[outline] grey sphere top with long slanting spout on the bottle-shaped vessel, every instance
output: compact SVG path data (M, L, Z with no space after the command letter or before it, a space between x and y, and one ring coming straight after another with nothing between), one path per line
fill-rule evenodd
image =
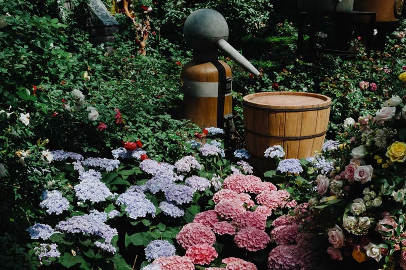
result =
M216 55L217 49L220 49L246 71L257 77L261 76L261 73L227 42L228 25L219 12L213 9L195 10L186 19L183 34L186 43L195 53Z

